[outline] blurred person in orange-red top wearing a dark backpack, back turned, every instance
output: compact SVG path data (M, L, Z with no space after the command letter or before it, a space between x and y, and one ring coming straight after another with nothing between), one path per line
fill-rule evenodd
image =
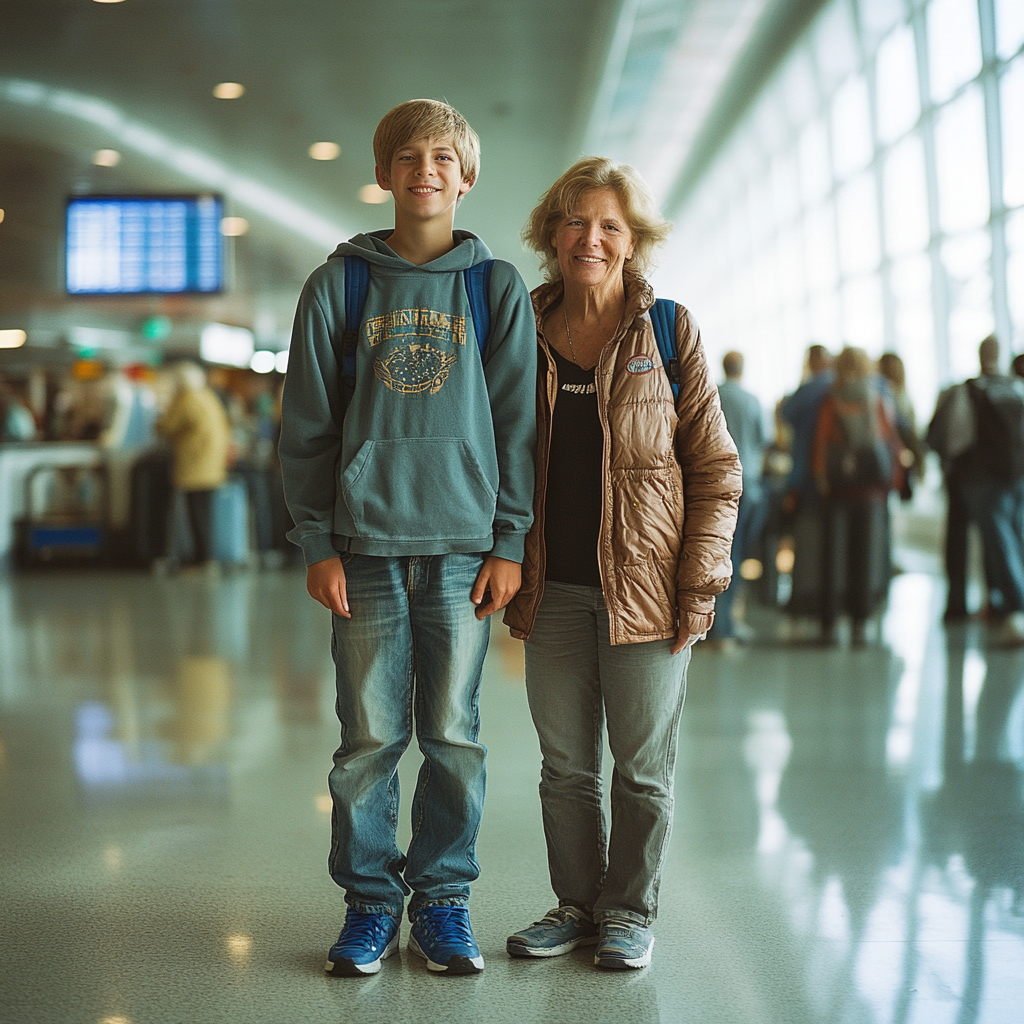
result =
M836 641L836 620L849 611L854 645L889 584L887 496L902 476L896 410L861 348L843 349L836 380L821 402L811 466L823 499L821 635Z

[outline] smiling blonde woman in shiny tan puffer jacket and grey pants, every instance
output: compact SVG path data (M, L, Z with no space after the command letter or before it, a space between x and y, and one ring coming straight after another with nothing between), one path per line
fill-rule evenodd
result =
M669 229L633 168L589 158L548 189L523 231L547 284L532 293L535 521L505 622L526 641L558 906L509 937L513 956L597 943L599 967L651 958L689 648L729 584L740 493L736 449L683 306L678 400L658 355L644 274Z

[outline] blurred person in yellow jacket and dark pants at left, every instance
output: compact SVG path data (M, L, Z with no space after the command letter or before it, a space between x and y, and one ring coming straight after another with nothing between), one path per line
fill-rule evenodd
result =
M170 406L157 430L174 453L175 487L185 498L196 564L213 557L213 493L227 479L231 428L220 399L207 386L206 374L195 362L175 368Z

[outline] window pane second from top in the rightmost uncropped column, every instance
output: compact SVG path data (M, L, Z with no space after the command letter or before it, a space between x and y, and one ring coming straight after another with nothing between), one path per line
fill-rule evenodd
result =
M939 222L947 232L980 227L988 220L988 158L985 104L974 85L940 111L935 124L939 177Z

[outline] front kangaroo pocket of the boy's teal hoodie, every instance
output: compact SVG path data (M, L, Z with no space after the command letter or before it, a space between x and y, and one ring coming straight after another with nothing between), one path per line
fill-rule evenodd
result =
M341 485L367 540L477 540L494 523L498 496L462 437L365 441Z

